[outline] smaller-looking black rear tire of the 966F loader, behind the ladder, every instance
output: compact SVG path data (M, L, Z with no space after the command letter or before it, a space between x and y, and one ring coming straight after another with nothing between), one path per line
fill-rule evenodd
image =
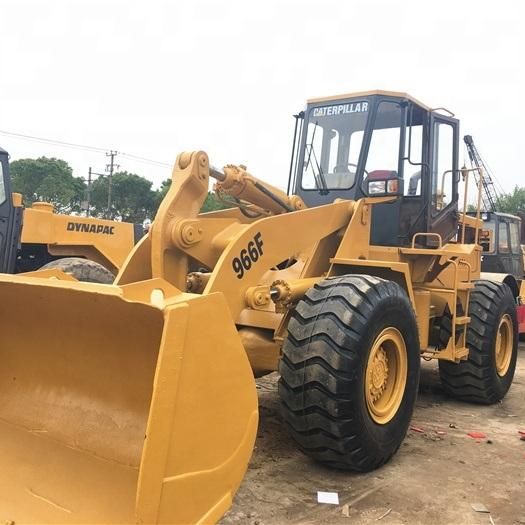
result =
M516 304L510 288L504 283L477 281L470 294L468 315L468 359L457 364L439 361L441 384L456 399L484 405L496 403L512 384L518 356ZM506 366L498 371L496 344L504 318L507 324L512 323L506 329L512 342Z

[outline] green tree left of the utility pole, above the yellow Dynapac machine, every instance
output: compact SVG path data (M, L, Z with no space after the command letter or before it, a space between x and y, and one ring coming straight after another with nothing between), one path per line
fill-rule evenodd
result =
M21 193L26 205L35 201L54 204L59 213L80 211L86 185L62 159L39 157L10 164L13 191Z

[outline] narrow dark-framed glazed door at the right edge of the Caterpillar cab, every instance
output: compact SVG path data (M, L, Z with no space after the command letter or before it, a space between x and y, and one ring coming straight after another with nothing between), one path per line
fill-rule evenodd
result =
M459 122L445 115L430 117L429 231L452 239L458 228Z

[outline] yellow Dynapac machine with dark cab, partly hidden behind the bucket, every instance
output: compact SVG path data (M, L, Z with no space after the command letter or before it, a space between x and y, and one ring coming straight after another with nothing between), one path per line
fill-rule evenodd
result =
M56 269L109 284L142 235L142 225L61 215L47 202L24 208L22 196L11 190L8 154L0 148L0 272Z

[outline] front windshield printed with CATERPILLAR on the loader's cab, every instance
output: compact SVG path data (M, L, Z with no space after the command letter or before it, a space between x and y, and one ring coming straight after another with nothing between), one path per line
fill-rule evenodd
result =
M369 102L355 100L313 107L308 113L303 189L350 189L368 118Z

